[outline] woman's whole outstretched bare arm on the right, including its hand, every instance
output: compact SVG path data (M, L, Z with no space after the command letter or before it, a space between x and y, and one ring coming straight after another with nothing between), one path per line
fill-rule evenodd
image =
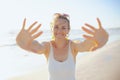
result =
M76 45L78 51L82 51L82 52L93 51L98 48L101 48L108 41L108 33L102 27L101 22L98 18L97 18L97 22L98 22L98 29L87 23L85 25L90 29L86 28L85 26L82 27L82 29L87 34L83 35L85 41Z

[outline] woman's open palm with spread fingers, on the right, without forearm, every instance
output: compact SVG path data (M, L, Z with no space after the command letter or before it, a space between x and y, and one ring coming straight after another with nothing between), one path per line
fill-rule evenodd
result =
M82 27L82 29L86 33L90 34L90 35L83 35L83 37L86 38L87 40L92 40L98 44L98 46L95 47L94 50L104 46L108 41L108 37L109 37L108 33L102 27L99 18L97 18L97 22L98 22L98 29L87 23L85 25L90 29L84 26Z

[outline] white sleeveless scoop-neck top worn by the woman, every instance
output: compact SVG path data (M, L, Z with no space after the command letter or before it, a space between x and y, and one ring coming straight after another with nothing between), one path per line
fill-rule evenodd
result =
M69 41L68 57L65 61L55 60L53 47L50 43L50 53L48 58L49 80L75 80L75 62L71 52Z

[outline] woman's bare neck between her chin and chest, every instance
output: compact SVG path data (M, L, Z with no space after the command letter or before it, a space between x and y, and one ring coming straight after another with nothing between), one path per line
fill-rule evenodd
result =
M54 47L59 48L59 49L65 48L68 45L68 43L69 43L68 39L64 39L64 40L55 39L54 40Z

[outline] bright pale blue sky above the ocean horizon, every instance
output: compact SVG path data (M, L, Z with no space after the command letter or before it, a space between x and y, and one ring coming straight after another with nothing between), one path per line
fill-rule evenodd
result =
M120 27L119 4L120 0L0 0L0 31L20 30L24 18L26 28L38 21L41 29L50 29L54 13L69 14L72 29L86 22L97 27L97 17L104 28Z

